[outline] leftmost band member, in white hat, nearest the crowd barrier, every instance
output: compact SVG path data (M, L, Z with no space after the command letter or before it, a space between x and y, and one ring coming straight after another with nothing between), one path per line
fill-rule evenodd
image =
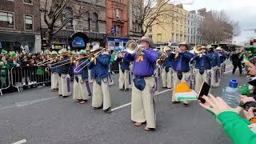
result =
M55 57L57 56L57 51L52 51L51 53L52 63L57 62ZM57 92L58 91L58 68L51 69L51 75L50 75L50 82L51 82L51 91Z

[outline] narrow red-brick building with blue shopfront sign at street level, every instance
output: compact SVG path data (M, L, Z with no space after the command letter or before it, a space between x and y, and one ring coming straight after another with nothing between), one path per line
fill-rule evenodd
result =
M106 35L111 50L122 50L128 41L128 0L106 0Z

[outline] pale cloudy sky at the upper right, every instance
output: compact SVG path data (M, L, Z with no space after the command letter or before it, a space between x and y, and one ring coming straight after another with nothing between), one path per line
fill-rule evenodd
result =
M206 10L224 10L234 21L238 21L242 34L234 38L236 44L248 42L250 38L256 38L256 0L174 0L182 2L186 10L198 10L206 7Z

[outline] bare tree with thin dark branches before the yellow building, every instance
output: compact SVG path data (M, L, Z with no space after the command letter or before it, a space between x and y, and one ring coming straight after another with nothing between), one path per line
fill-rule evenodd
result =
M138 2L136 0L132 0L131 2ZM142 2L142 3L141 3ZM139 19L141 22L141 30L142 36L146 34L150 26L154 26L163 22L166 22L165 18L170 16L168 8L166 5L171 2L170 0L142 0L138 3L137 9L139 12L134 14L136 19Z

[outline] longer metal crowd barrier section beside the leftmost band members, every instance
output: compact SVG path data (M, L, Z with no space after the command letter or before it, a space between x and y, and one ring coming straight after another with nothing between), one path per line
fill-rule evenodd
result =
M45 71L46 66L31 66L31 67L13 67L11 69L12 86L16 87L18 92L27 86L36 87L46 82L50 82L50 74Z

